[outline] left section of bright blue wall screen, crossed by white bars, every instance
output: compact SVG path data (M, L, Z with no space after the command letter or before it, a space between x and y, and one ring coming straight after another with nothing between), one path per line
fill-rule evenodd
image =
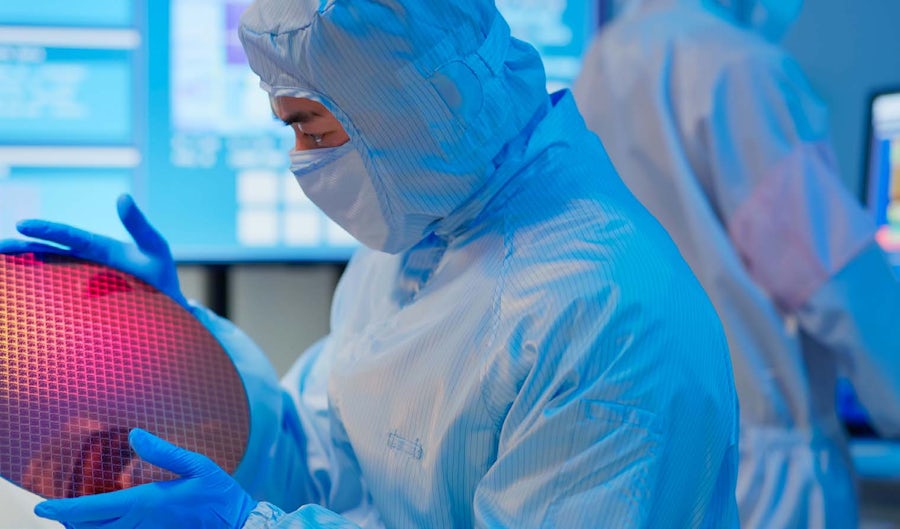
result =
M0 236L23 217L122 235L145 174L146 23L123 0L0 4Z

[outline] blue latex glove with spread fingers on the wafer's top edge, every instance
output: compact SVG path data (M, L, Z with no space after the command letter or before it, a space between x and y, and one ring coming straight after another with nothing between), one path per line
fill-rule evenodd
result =
M119 219L136 244L57 222L23 220L16 224L19 233L39 240L6 239L0 241L0 253L51 252L105 264L142 279L190 309L178 284L169 244L130 195L120 196L116 206Z

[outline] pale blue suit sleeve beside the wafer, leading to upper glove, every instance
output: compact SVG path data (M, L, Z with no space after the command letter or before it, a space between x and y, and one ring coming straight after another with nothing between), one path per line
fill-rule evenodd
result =
M234 477L269 513L255 516L251 526L269 527L259 523L272 522L281 509L313 505L348 520L377 520L340 421L329 410L329 339L304 352L279 382L264 353L234 324L199 306L193 312L232 357L247 391L251 434Z

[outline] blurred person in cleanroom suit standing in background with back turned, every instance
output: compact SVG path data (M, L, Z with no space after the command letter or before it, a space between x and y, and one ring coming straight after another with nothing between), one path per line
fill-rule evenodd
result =
M875 425L900 433L900 289L841 185L825 108L771 43L799 10L625 2L574 92L725 325L742 526L846 529L857 507L835 378L846 371Z

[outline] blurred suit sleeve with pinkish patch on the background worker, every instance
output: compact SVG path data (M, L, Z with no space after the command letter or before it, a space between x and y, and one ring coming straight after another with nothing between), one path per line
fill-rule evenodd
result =
M876 428L900 435L900 286L838 178L824 108L783 56L726 70L714 196L753 279L836 354Z

